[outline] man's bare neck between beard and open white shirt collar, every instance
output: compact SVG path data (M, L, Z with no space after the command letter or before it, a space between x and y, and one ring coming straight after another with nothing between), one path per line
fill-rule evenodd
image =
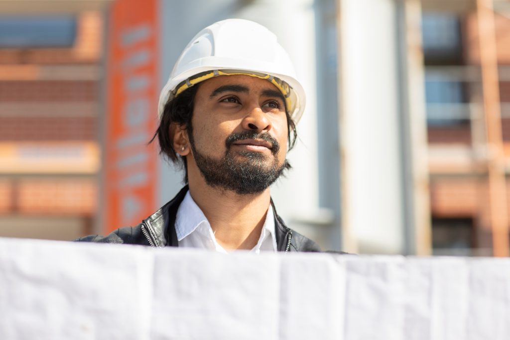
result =
M252 249L257 245L271 200L269 188L239 195L190 180L189 190L224 249Z

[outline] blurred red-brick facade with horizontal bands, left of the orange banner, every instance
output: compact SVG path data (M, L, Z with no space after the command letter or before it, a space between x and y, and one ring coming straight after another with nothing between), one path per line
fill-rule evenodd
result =
M104 6L0 2L0 234L91 231Z

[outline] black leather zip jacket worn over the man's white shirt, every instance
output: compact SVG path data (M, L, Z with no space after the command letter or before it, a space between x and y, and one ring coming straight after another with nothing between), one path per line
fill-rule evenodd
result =
M107 236L86 236L76 241L138 244L152 247L177 247L177 234L175 233L175 216L177 209L186 196L188 186L160 210L150 215L136 227L119 228ZM271 204L273 202L271 201ZM288 228L284 221L276 214L274 209L274 229L278 251L320 251L319 246L310 239Z

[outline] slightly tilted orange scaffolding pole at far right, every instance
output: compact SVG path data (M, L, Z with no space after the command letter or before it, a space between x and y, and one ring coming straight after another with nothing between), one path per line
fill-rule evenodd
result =
M487 128L489 203L494 256L508 256L508 205L504 169L493 0L477 0L478 41Z

